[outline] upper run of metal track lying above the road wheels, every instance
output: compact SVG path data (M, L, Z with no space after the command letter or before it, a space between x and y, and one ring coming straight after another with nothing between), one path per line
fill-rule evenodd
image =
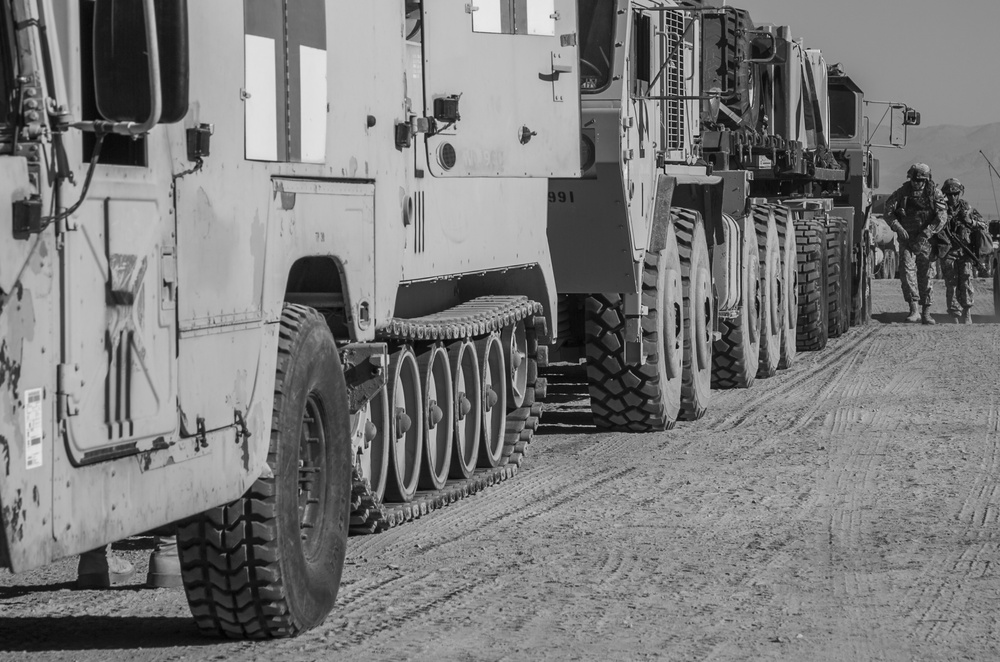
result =
M460 340L481 336L542 312L542 304L523 296L477 297L432 315L393 317L378 335L395 340ZM544 324L542 324L544 327ZM535 325L528 325L529 331Z

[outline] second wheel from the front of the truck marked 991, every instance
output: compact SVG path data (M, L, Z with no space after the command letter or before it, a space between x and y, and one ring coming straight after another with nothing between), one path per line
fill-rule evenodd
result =
M705 415L712 398L712 336L715 330L712 270L701 214L676 208L670 210L670 217L677 233L684 292L679 418L694 421Z

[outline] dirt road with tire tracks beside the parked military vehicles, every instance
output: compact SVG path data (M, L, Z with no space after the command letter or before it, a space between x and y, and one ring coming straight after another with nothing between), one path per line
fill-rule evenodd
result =
M668 433L598 433L554 378L521 472L352 539L296 640L206 640L182 591L70 590L67 561L0 575L0 658L998 659L1000 326L904 324L874 285L876 321Z

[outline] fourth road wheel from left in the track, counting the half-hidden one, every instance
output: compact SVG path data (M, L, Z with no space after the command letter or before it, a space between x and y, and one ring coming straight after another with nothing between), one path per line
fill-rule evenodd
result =
M451 477L469 478L479 460L482 435L482 384L479 379L479 356L469 340L452 343L448 348L455 387L455 446L451 455Z

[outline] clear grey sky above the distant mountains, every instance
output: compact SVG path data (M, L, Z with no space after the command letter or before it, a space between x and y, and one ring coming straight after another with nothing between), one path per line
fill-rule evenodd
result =
M921 124L1000 122L1000 0L726 0L754 23L791 27L865 97L920 111Z

